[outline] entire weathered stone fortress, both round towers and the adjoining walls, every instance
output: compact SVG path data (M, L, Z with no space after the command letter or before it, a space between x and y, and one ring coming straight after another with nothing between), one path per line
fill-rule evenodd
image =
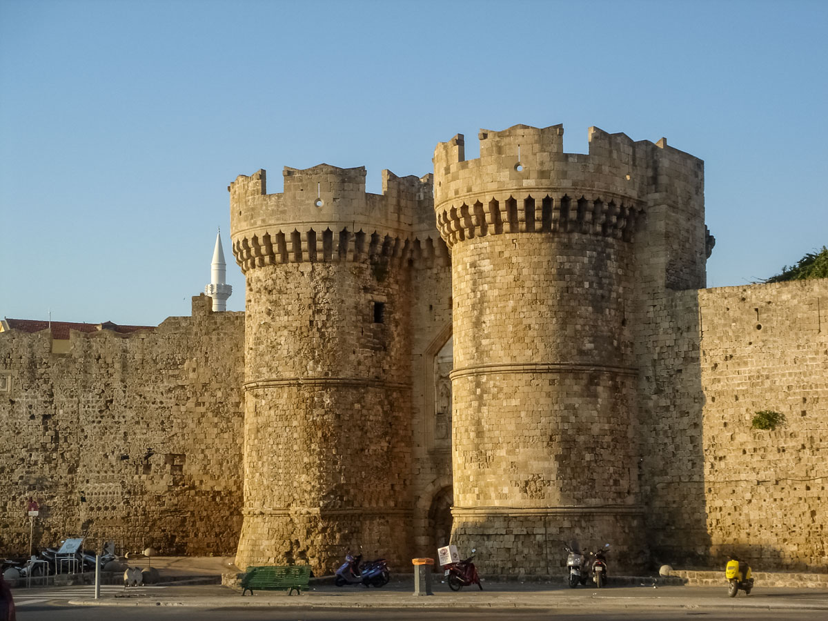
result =
M828 281L704 289L703 163L562 133L483 130L473 161L457 136L382 195L363 168L239 176L244 314L2 333L0 551L36 496L36 546L242 568L411 567L450 533L489 574L560 575L573 537L616 570L826 566Z

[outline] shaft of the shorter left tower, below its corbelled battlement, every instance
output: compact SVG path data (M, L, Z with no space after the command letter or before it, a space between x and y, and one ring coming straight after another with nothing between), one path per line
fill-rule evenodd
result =
M237 565L295 561L330 574L362 546L400 566L412 510L405 272L379 281L367 262L303 262L247 280Z

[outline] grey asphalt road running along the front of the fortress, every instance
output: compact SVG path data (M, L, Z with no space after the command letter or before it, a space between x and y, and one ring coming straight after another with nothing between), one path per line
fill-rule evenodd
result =
M445 592L444 592L445 591ZM518 586L514 584L487 585L487 590L462 591L452 594L443 589L436 597L428 598L428 608L412 608L411 585L391 585L383 590L339 590L333 586L320 587L315 593L287 600L284 593L257 595L260 602L248 595L243 599L237 592L216 585L204 586L147 586L128 591L123 587L103 586L102 599L106 606L68 604L69 600L83 600L92 595L90 586L15 590L17 618L21 621L55 619L55 621L164 621L165 619L205 619L205 621L356 621L358 619L457 619L483 621L498 619L528 621L529 619L575 619L577 621L631 621L633 619L721 619L721 621L770 621L779 619L828 618L828 592L815 589L756 590L752 595L740 594L729 599L724 588L664 587L658 590L635 587L616 587L605 590L569 590L566 588ZM441 607L440 599L455 608ZM486 602L489 604L486 604ZM155 605L158 602L160 605ZM143 604L143 605L136 605ZM146 605L149 604L149 605ZM187 605L189 604L189 605ZM319 607L321 604L339 608ZM380 604L381 608L358 607ZM399 608L400 605L407 608ZM456 607L460 604L460 607ZM465 604L468 604L466 607ZM522 609L532 604L534 609ZM203 607L196 607L201 605ZM290 605L291 607L287 607ZM489 609L486 605L500 605ZM475 608L472 608L475 606ZM506 609L503 606L517 606ZM548 606L548 608L547 608Z

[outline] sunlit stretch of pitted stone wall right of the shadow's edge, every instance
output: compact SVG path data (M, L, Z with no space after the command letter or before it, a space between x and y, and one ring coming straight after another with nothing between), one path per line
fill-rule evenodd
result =
M828 566L828 279L699 292L711 556ZM786 417L751 428L756 412Z

